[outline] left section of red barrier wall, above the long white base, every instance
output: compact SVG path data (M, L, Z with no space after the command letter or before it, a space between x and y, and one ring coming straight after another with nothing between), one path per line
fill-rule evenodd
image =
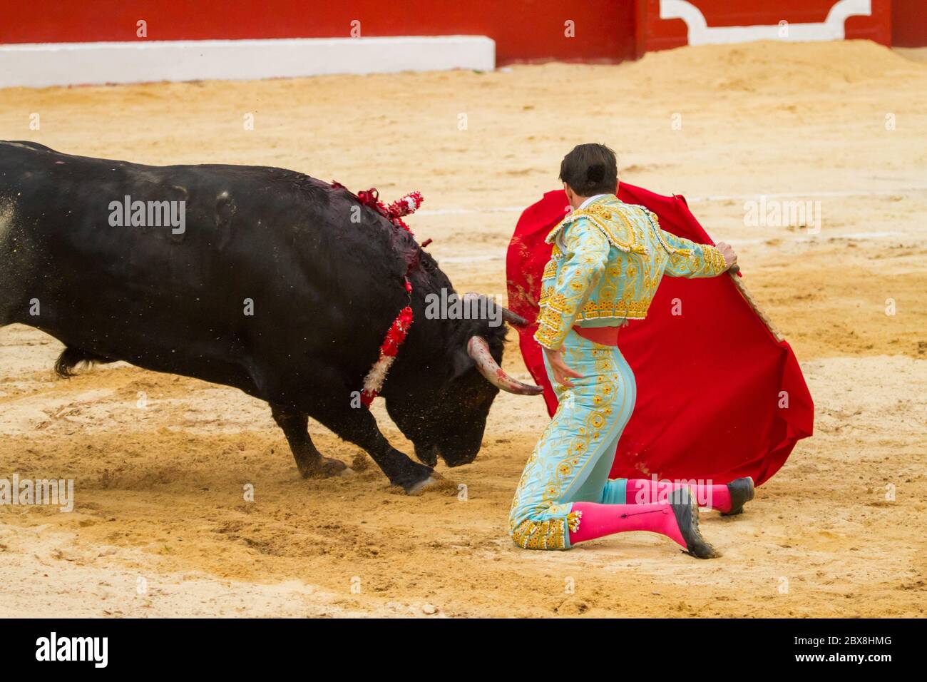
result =
M500 64L514 60L621 61L634 57L635 0L6 0L0 43L488 35ZM565 35L573 21L575 37Z

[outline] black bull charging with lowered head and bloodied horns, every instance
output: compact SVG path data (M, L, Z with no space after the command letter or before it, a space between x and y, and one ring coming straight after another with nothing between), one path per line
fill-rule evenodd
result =
M126 200L171 202L184 221L132 225ZM390 446L357 400L409 302L407 272L414 322L382 395L424 464ZM0 327L19 322L62 341L62 375L124 360L256 396L303 476L345 468L312 444L309 417L413 492L433 480L438 456L473 461L497 386L536 392L495 367L504 326L425 315L425 296L441 290L450 280L409 233L307 175L0 142Z

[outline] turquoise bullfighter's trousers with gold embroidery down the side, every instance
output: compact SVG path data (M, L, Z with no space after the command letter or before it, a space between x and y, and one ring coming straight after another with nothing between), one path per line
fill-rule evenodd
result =
M616 346L589 341L572 329L563 356L583 378L572 380L573 388L554 382L545 355L559 405L515 489L509 529L519 547L569 548L569 531L580 522L574 502L625 503L627 480L610 481L608 472L634 410L634 374Z

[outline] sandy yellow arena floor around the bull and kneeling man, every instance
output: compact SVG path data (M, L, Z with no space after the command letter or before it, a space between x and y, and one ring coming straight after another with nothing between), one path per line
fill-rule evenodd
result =
M703 514L719 560L650 534L526 552L507 513L540 399L503 394L476 462L441 470L468 499L408 497L369 459L301 481L269 408L235 390L128 366L58 380L60 344L11 326L0 477L73 478L76 507L0 508L0 616L924 615L925 54L766 43L619 66L0 92L4 139L283 166L387 199L421 189L416 235L459 290L487 293L504 292L518 210L557 187L569 148L607 142L623 179L684 194L738 249L818 408L814 438L747 513ZM744 225L761 193L819 201L819 231ZM525 373L514 344L506 366ZM311 431L328 455L359 455Z

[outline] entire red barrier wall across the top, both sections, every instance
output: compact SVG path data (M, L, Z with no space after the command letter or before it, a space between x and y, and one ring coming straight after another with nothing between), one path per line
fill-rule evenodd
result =
M836 0L691 0L709 26L823 21ZM349 5L349 6L346 6ZM923 0L872 0L871 17L846 21L848 38L883 45L927 45ZM659 19L659 0L6 0L0 43L488 35L500 64L513 61L621 61L686 45L681 19ZM894 19L894 21L893 21ZM572 21L574 37L566 35ZM894 32L893 32L894 26Z

